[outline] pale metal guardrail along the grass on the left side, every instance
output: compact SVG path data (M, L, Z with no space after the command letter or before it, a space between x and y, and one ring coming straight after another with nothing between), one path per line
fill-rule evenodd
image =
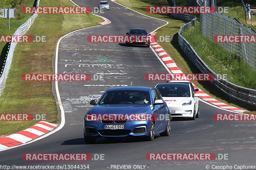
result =
M37 0L37 3L36 3L37 7L39 6L39 1L40 0ZM24 35L28 31L30 26L33 24L36 17L37 17L36 13L32 14L32 16L30 18L28 18L28 20L24 24L19 26L19 28L14 32L13 35ZM13 56L14 48L15 48L16 45L17 45L17 42L12 42L10 44L10 49L9 49L8 54L7 54L6 61L4 63L4 70L3 70L3 73L0 77L0 96L1 96L1 93L3 92L3 90L4 90L4 84L5 84L7 75L8 75L9 70L10 70L10 66L11 66L11 63L12 63L12 56Z

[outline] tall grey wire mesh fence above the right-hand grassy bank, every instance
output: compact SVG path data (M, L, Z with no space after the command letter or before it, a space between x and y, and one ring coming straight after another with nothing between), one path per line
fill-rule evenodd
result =
M201 3L200 3L201 5ZM204 36L213 41L216 35L255 36L252 28L247 28L236 18L232 19L220 13L201 14L200 30ZM253 42L223 42L220 45L230 53L244 59L244 62L256 70L256 43Z

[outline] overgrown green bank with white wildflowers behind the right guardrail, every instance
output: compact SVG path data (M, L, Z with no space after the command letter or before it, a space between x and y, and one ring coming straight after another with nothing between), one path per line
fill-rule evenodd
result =
M200 32L200 23L183 32L183 37L202 60L217 74L228 74L228 81L249 89L256 89L256 71L243 59L228 53L218 43L205 38Z

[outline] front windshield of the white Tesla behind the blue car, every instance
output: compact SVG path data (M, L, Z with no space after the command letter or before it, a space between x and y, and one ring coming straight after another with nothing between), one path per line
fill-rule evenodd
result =
M169 83L156 87L163 97L190 97L189 84Z

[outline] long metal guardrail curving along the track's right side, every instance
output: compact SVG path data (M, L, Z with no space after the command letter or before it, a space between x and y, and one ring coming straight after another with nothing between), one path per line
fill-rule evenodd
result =
M198 0L198 2L202 2L202 0ZM200 5L200 4L199 4ZM180 31L178 32L178 42L183 50L183 52L188 56L189 60L204 74L214 74L215 77L219 77L214 71L209 68L204 61L197 55L193 47L188 43L188 41L182 37L182 32L189 28L191 25L195 24L197 18L194 16L188 17L188 14L172 14L172 16L176 18L193 18L188 23L182 25L180 27ZM223 78L220 80L211 81L211 83L217 87L220 91L225 93L226 95L241 101L243 103L249 103L256 106L256 90L248 89L244 87L237 86Z

